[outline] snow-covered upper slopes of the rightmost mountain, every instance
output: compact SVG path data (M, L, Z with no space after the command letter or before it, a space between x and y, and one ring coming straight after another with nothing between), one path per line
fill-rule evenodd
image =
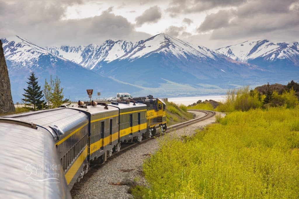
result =
M250 40L216 50L229 58L245 63L257 64L257 60L266 63L289 61L299 66L298 42L293 44L273 43L269 40ZM263 64L264 65L264 64Z

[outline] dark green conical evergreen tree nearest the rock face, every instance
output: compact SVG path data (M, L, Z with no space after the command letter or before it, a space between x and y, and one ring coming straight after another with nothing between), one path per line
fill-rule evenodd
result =
M31 109L34 111L40 110L45 106L45 101L41 100L44 95L42 95L37 79L34 72L31 72L31 75L28 78L29 81L26 82L28 87L27 89L24 88L25 94L22 94L24 96L24 99L22 100L25 102L25 105L33 105L33 108Z

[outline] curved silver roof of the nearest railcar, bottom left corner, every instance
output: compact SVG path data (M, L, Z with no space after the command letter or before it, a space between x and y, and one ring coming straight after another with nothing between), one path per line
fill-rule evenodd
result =
M14 122L0 121L1 198L71 198L51 134Z

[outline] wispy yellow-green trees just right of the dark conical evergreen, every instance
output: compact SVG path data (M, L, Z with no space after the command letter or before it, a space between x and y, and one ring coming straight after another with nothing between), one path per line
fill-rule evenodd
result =
M44 94L46 100L50 102L51 108L57 108L65 102L68 102L68 99L63 100L63 88L60 87L60 79L56 76L56 79L52 80L52 76L50 77L50 83L45 79L44 85Z

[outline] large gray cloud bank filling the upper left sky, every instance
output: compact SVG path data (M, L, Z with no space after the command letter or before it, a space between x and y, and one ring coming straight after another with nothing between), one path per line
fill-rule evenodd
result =
M123 16L111 13L111 7L99 16L62 20L66 6L78 1L49 2L20 0L8 4L0 0L0 10L4 10L0 12L0 36L19 35L43 47L102 44L106 39L139 41L150 36L136 31L134 24Z

